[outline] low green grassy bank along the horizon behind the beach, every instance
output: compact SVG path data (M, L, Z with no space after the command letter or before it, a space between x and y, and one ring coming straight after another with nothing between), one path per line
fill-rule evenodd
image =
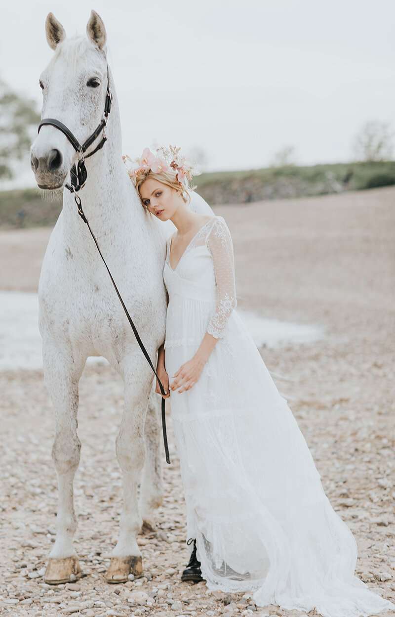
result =
M195 184L211 205L245 204L389 186L395 184L395 162L203 173L195 176ZM52 226L61 208L61 201L44 200L35 188L0 191L0 227Z

